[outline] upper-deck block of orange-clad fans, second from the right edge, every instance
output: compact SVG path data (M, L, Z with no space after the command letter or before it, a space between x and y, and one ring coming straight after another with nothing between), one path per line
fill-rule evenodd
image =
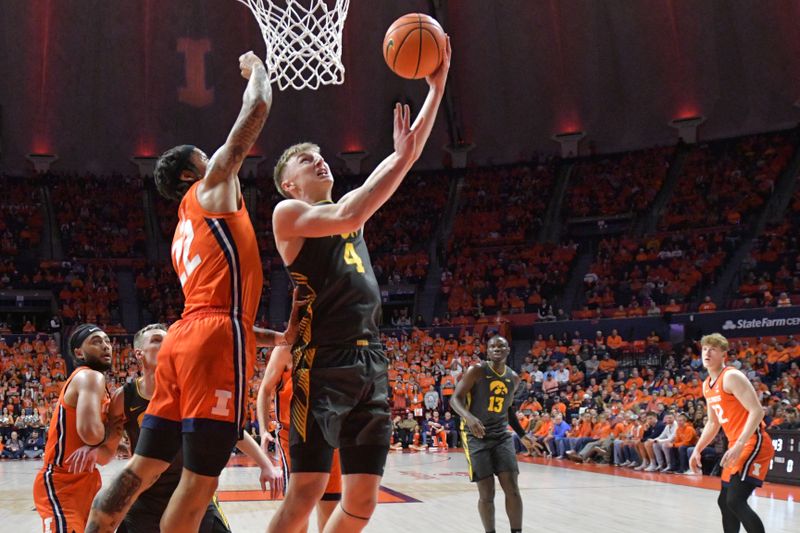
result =
M572 167L563 213L568 218L643 213L669 170L674 147L581 160Z

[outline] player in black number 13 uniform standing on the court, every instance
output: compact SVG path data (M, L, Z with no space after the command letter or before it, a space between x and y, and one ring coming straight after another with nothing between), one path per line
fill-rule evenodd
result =
M461 416L461 440L467 456L470 481L478 485L478 513L487 533L494 533L494 476L506 495L511 533L522 531L522 497L519 465L508 426L528 450L531 440L514 413L514 393L519 376L506 366L511 349L499 335L489 339L486 358L467 370L456 385L450 406Z

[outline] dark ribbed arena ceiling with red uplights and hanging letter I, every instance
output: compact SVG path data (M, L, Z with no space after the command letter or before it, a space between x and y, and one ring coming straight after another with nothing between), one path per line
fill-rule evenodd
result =
M303 0L306 1L306 0ZM582 130L612 152L674 142L673 118L704 115L701 138L796 125L800 3L792 0L442 0L453 43L454 127L441 114L421 167L473 143L472 163L557 153ZM426 86L381 56L399 15L427 0L352 0L345 84L276 91L256 152L319 142L332 155L391 150L391 108ZM133 155L178 143L219 146L241 102L237 57L265 53L235 0L11 0L0 4L0 166L56 153L56 169L133 171ZM264 167L269 168L269 165Z

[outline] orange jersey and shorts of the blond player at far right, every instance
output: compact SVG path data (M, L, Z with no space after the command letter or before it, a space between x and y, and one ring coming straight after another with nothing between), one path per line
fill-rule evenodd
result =
M731 372L732 367L725 367L717 379L711 381L707 377L703 382L703 396L709 409L714 411L728 438L728 447L732 447L744 431L747 424L748 411L744 405L729 392L723 389L723 378ZM749 481L761 486L769 470L769 462L774 455L772 439L761 422L758 429L747 440L739 458L722 470L722 483L727 484L731 476L737 475L742 481Z

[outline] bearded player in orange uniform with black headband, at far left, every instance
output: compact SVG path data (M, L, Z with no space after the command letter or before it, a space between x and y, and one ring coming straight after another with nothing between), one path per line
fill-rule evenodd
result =
M108 335L94 324L81 324L69 338L69 352L76 368L58 397L44 464L33 484L45 533L83 532L101 485L94 465L114 458L122 428L122 420L108 414L103 375L111 368Z

